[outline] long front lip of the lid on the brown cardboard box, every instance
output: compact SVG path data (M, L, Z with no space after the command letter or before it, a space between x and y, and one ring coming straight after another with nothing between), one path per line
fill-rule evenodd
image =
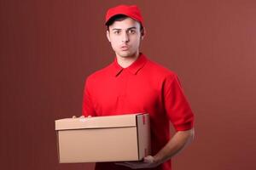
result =
M135 127L137 114L117 116L92 116L83 118L65 118L55 120L55 130L103 128L103 127Z

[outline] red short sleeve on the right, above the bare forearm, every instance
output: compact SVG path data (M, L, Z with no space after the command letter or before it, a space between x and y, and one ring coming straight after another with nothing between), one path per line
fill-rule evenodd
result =
M176 74L166 77L164 100L167 116L177 131L189 130L194 126L194 113Z

